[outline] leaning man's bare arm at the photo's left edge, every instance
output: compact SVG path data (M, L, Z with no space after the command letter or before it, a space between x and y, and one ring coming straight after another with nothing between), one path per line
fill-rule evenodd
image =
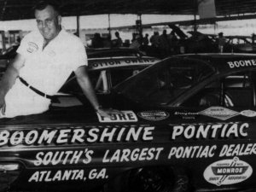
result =
M25 58L17 54L15 60L9 64L6 72L0 81L0 112L5 113L5 96L15 84L15 79L19 76L20 68L24 66Z

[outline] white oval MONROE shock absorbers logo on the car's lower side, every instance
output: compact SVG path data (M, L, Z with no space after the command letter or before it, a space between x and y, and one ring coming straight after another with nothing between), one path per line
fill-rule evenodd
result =
M233 160L219 160L207 166L204 177L207 182L220 186L245 181L252 173L252 166L234 157Z

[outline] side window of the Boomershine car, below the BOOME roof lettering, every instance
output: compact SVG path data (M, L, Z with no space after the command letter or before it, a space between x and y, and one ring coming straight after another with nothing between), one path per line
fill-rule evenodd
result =
M252 73L236 73L207 84L183 106L252 107L254 99Z

